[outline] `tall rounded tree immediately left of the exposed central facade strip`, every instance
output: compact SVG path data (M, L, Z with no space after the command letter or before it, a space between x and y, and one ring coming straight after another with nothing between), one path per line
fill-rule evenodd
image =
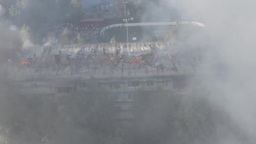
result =
M72 129L77 132L79 129L84 133L79 139L84 139L87 133L91 135L88 138L91 139L91 143L105 143L117 126L115 104L109 101L107 91L98 88L93 81L89 83L90 85L86 85L86 91L72 93L64 100L64 107L59 116L61 120L58 123L65 125L61 131ZM69 134L69 136L76 137L75 134Z

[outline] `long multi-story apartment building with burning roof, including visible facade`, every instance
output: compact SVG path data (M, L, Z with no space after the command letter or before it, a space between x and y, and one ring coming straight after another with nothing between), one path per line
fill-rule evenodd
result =
M117 119L129 124L137 91L162 88L173 96L186 88L184 77L195 74L200 53L181 50L172 42L42 46L23 51L19 67L10 60L8 80L19 93L59 101L73 91L85 93L93 80L111 93Z

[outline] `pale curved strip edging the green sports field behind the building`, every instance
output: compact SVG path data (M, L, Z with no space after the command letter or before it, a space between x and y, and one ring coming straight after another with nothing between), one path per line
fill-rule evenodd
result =
M105 30L111 29L114 27L135 27L135 26L166 26L166 25L175 25L177 22L176 21L171 21L171 22L147 22L147 23L128 23L128 24L112 24L107 27L104 27L101 29L100 35L104 35ZM190 24L190 25L197 25L199 27L205 27L205 24L202 24L200 22L195 22L195 21L178 21L179 24Z

